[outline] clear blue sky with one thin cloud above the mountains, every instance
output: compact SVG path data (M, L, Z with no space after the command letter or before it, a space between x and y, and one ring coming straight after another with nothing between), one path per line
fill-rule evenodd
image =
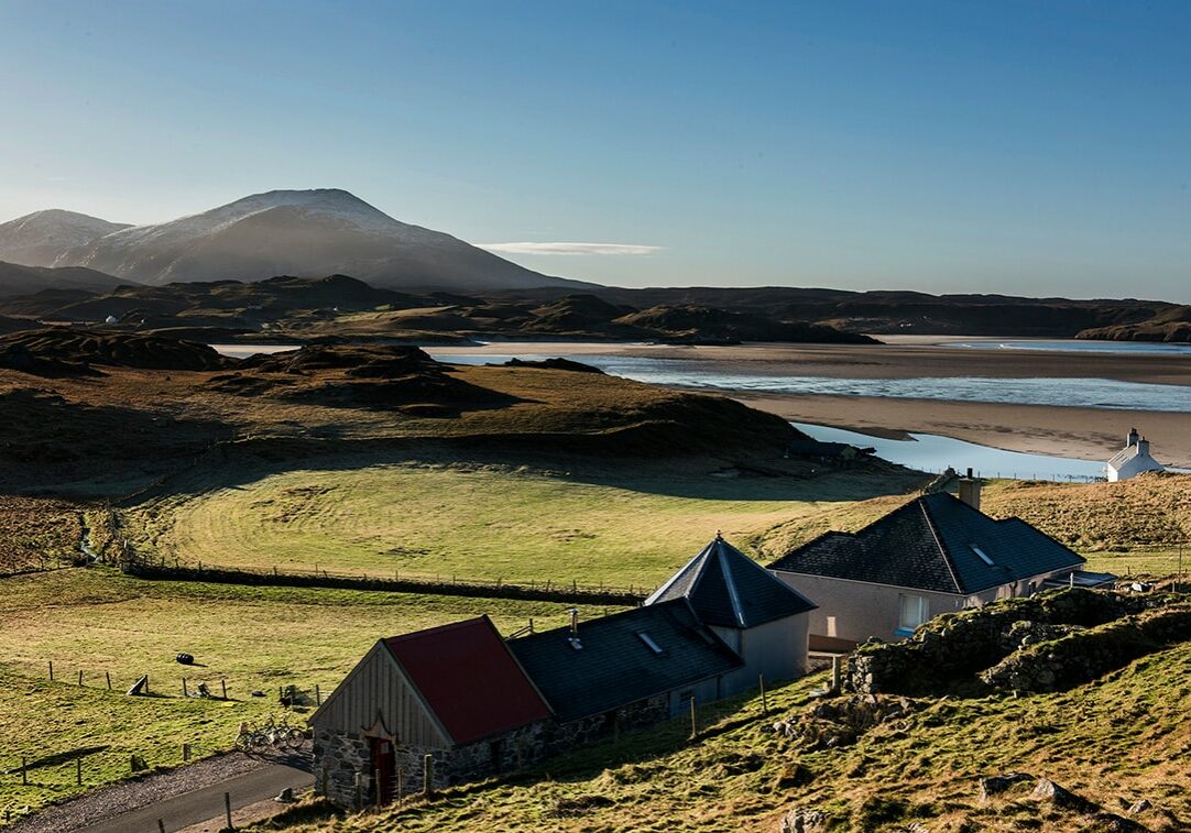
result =
M1125 0L0 0L0 221L333 187L618 286L1186 302L1189 43Z

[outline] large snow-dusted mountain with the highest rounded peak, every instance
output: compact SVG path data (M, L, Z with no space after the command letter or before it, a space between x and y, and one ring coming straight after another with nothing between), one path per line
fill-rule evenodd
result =
M61 250L141 283L351 275L378 287L515 289L578 282L531 271L450 234L399 223L345 190L272 190Z

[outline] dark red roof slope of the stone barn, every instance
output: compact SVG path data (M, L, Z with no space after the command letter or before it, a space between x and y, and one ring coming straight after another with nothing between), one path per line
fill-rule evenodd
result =
M550 715L487 616L385 640L456 744Z

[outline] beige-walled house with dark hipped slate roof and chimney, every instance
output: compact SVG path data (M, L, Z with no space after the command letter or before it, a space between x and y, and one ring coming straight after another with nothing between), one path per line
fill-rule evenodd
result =
M898 639L940 613L1031 595L1061 580L1095 584L1084 558L1018 518L979 511L978 481L917 497L855 533L828 532L769 569L818 605L812 651ZM1074 576L1073 576L1074 574Z

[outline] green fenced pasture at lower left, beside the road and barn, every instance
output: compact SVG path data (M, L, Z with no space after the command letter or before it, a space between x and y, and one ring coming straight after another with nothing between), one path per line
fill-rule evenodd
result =
M197 754L227 749L241 720L280 716L279 685L326 694L378 638L480 613L505 632L530 616L567 621L545 602L143 582L96 569L0 581L0 819L126 777L133 753L168 766L182 762L183 743ZM182 651L200 665L179 665ZM142 674L154 696L125 696ZM192 691L205 681L217 695L226 679L231 700L183 699L183 676ZM27 787L23 756L45 762Z

